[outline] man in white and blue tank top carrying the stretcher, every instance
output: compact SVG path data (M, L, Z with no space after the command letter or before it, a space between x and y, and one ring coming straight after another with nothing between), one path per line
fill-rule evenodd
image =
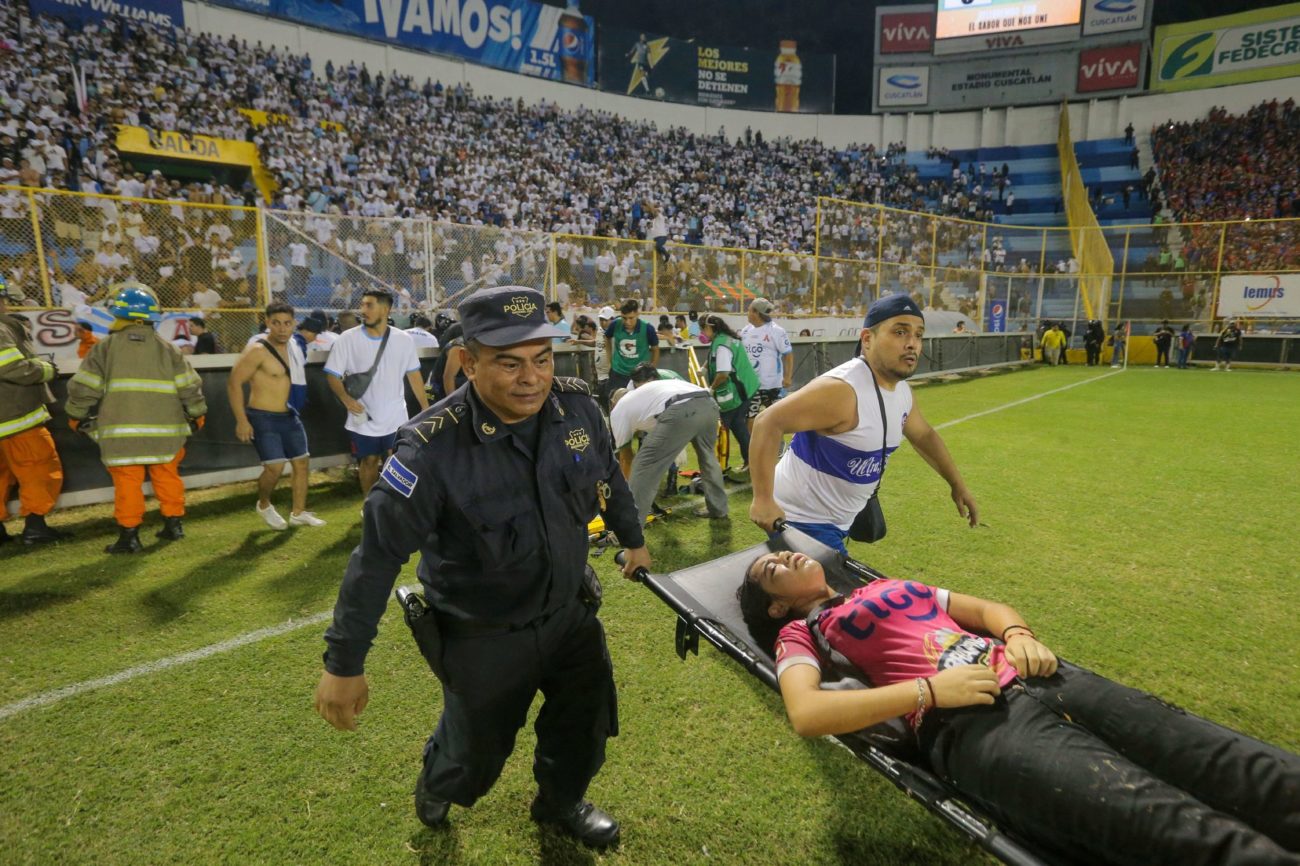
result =
M926 320L911 298L881 298L867 309L861 358L823 373L755 419L749 451L754 482L749 516L754 523L771 532L774 523L785 520L846 551L849 527L871 499L904 437L948 481L957 514L972 527L979 523L975 498L942 437L913 404L906 382L916 372L924 332ZM786 433L794 438L777 463Z

